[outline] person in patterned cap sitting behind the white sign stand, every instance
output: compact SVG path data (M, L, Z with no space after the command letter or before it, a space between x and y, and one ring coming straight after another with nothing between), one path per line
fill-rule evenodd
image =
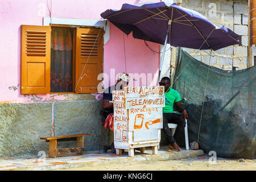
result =
M115 85L109 86L109 88L104 90L103 93L103 103L102 103L102 115L106 118L105 121L105 129L109 128L112 132L114 129L114 108L112 101L112 91L113 90L123 90L125 86L129 84L130 77L127 73L120 73L118 75L118 79ZM114 141L111 146L104 146L104 152L108 149L111 149L113 153L115 153Z

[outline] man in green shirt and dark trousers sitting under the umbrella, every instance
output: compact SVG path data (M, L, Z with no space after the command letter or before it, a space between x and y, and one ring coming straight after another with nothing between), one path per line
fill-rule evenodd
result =
M170 143L168 147L174 148L176 151L180 151L180 147L177 145L176 140L183 137L182 134L186 124L185 119L188 118L188 114L187 111L181 106L180 94L176 90L170 88L170 84L171 80L168 77L163 77L159 82L160 86L164 86L164 96L166 100L166 106L163 107L163 129ZM177 111L179 111L181 114L174 113L174 104ZM168 123L177 124L174 137L172 137Z

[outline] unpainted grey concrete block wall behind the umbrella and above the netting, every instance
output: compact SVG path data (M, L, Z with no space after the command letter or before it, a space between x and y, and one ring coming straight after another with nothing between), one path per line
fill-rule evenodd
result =
M241 43L212 52L210 65L224 70L232 70L233 67L244 69L248 67L248 9L246 0L183 0L182 6L193 9L203 14L218 27L225 26L241 35ZM190 55L209 64L210 51L183 48ZM253 47L253 56L256 47ZM255 55L256 56L256 55Z

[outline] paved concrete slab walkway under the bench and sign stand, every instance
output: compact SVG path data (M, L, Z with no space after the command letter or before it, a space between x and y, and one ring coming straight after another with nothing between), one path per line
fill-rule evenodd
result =
M97 166L127 163L131 161L159 161L159 160L179 160L204 155L203 150L185 150L180 152L170 150L167 146L161 146L158 154L152 155L151 147L146 147L144 153L135 150L133 157L128 156L125 151L122 155L107 153L102 151L88 151L84 155L59 155L56 158L42 158L42 156L30 156L26 158L5 158L0 159L0 170L7 171L47 171L55 169L81 168L85 166Z

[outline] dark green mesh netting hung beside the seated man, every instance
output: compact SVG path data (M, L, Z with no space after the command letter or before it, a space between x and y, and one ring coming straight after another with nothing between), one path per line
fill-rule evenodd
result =
M223 71L180 49L173 88L189 115L189 142L199 139L207 154L255 159L255 75L255 66Z

